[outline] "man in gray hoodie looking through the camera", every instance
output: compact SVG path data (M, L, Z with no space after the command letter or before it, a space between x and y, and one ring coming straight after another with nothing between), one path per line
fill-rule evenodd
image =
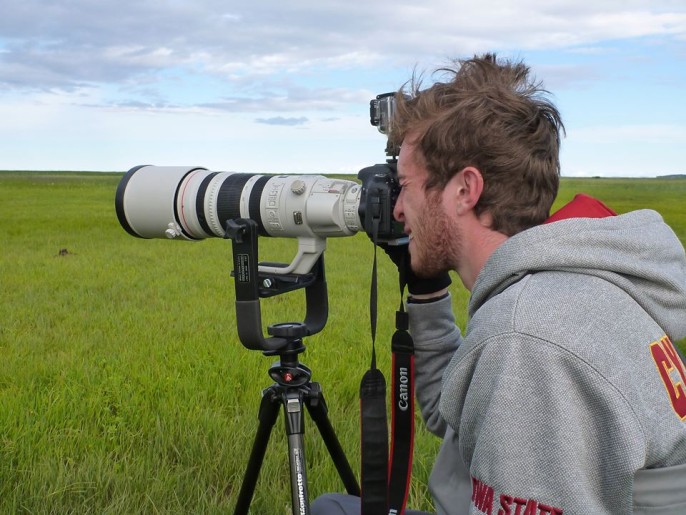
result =
M408 313L438 513L686 513L682 245L649 210L545 224L557 110L522 63L460 64L397 96L392 133L394 216L428 278ZM471 292L464 339L448 270Z

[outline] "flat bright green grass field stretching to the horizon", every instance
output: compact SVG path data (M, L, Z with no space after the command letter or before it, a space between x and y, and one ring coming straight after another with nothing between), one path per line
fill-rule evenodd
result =
M272 359L238 342L231 246L140 240L117 222L121 174L0 173L0 512L226 513L241 484ZM686 179L565 179L557 205L584 191L619 212L660 211L686 242ZM63 250L63 249L66 249ZM295 242L260 240L290 261ZM327 327L303 363L359 469L358 386L369 365L367 238L330 239ZM379 269L381 367L397 305ZM464 327L467 293L453 285ZM262 302L265 323L301 320L294 292ZM682 342L683 344L683 342ZM342 486L306 420L310 494ZM421 422L409 504L431 509L439 441ZM282 416L252 513L290 513Z

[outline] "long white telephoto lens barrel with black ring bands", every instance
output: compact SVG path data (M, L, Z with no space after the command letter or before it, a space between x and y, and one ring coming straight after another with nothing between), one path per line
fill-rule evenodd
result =
M254 220L265 236L351 236L362 226L361 189L321 175L138 166L120 181L115 209L121 226L141 238L221 238L237 218Z

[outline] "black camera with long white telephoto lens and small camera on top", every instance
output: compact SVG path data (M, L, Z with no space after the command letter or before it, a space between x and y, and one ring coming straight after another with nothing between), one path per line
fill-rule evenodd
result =
M393 106L393 94L378 95L370 102L371 123L386 135ZM400 191L397 154L388 145L386 152L390 158L385 164L359 172L361 184L321 175L137 166L121 179L115 209L121 226L141 238L221 238L228 220L251 219L262 236L297 238L298 262L291 263L286 273L307 272L326 238L364 230L377 242L406 241L402 225L393 219Z

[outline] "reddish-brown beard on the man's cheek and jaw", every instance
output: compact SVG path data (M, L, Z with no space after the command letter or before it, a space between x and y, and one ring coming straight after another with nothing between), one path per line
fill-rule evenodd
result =
M441 192L427 195L425 209L412 228L410 264L418 277L435 277L457 270L461 246L460 228L445 216Z

